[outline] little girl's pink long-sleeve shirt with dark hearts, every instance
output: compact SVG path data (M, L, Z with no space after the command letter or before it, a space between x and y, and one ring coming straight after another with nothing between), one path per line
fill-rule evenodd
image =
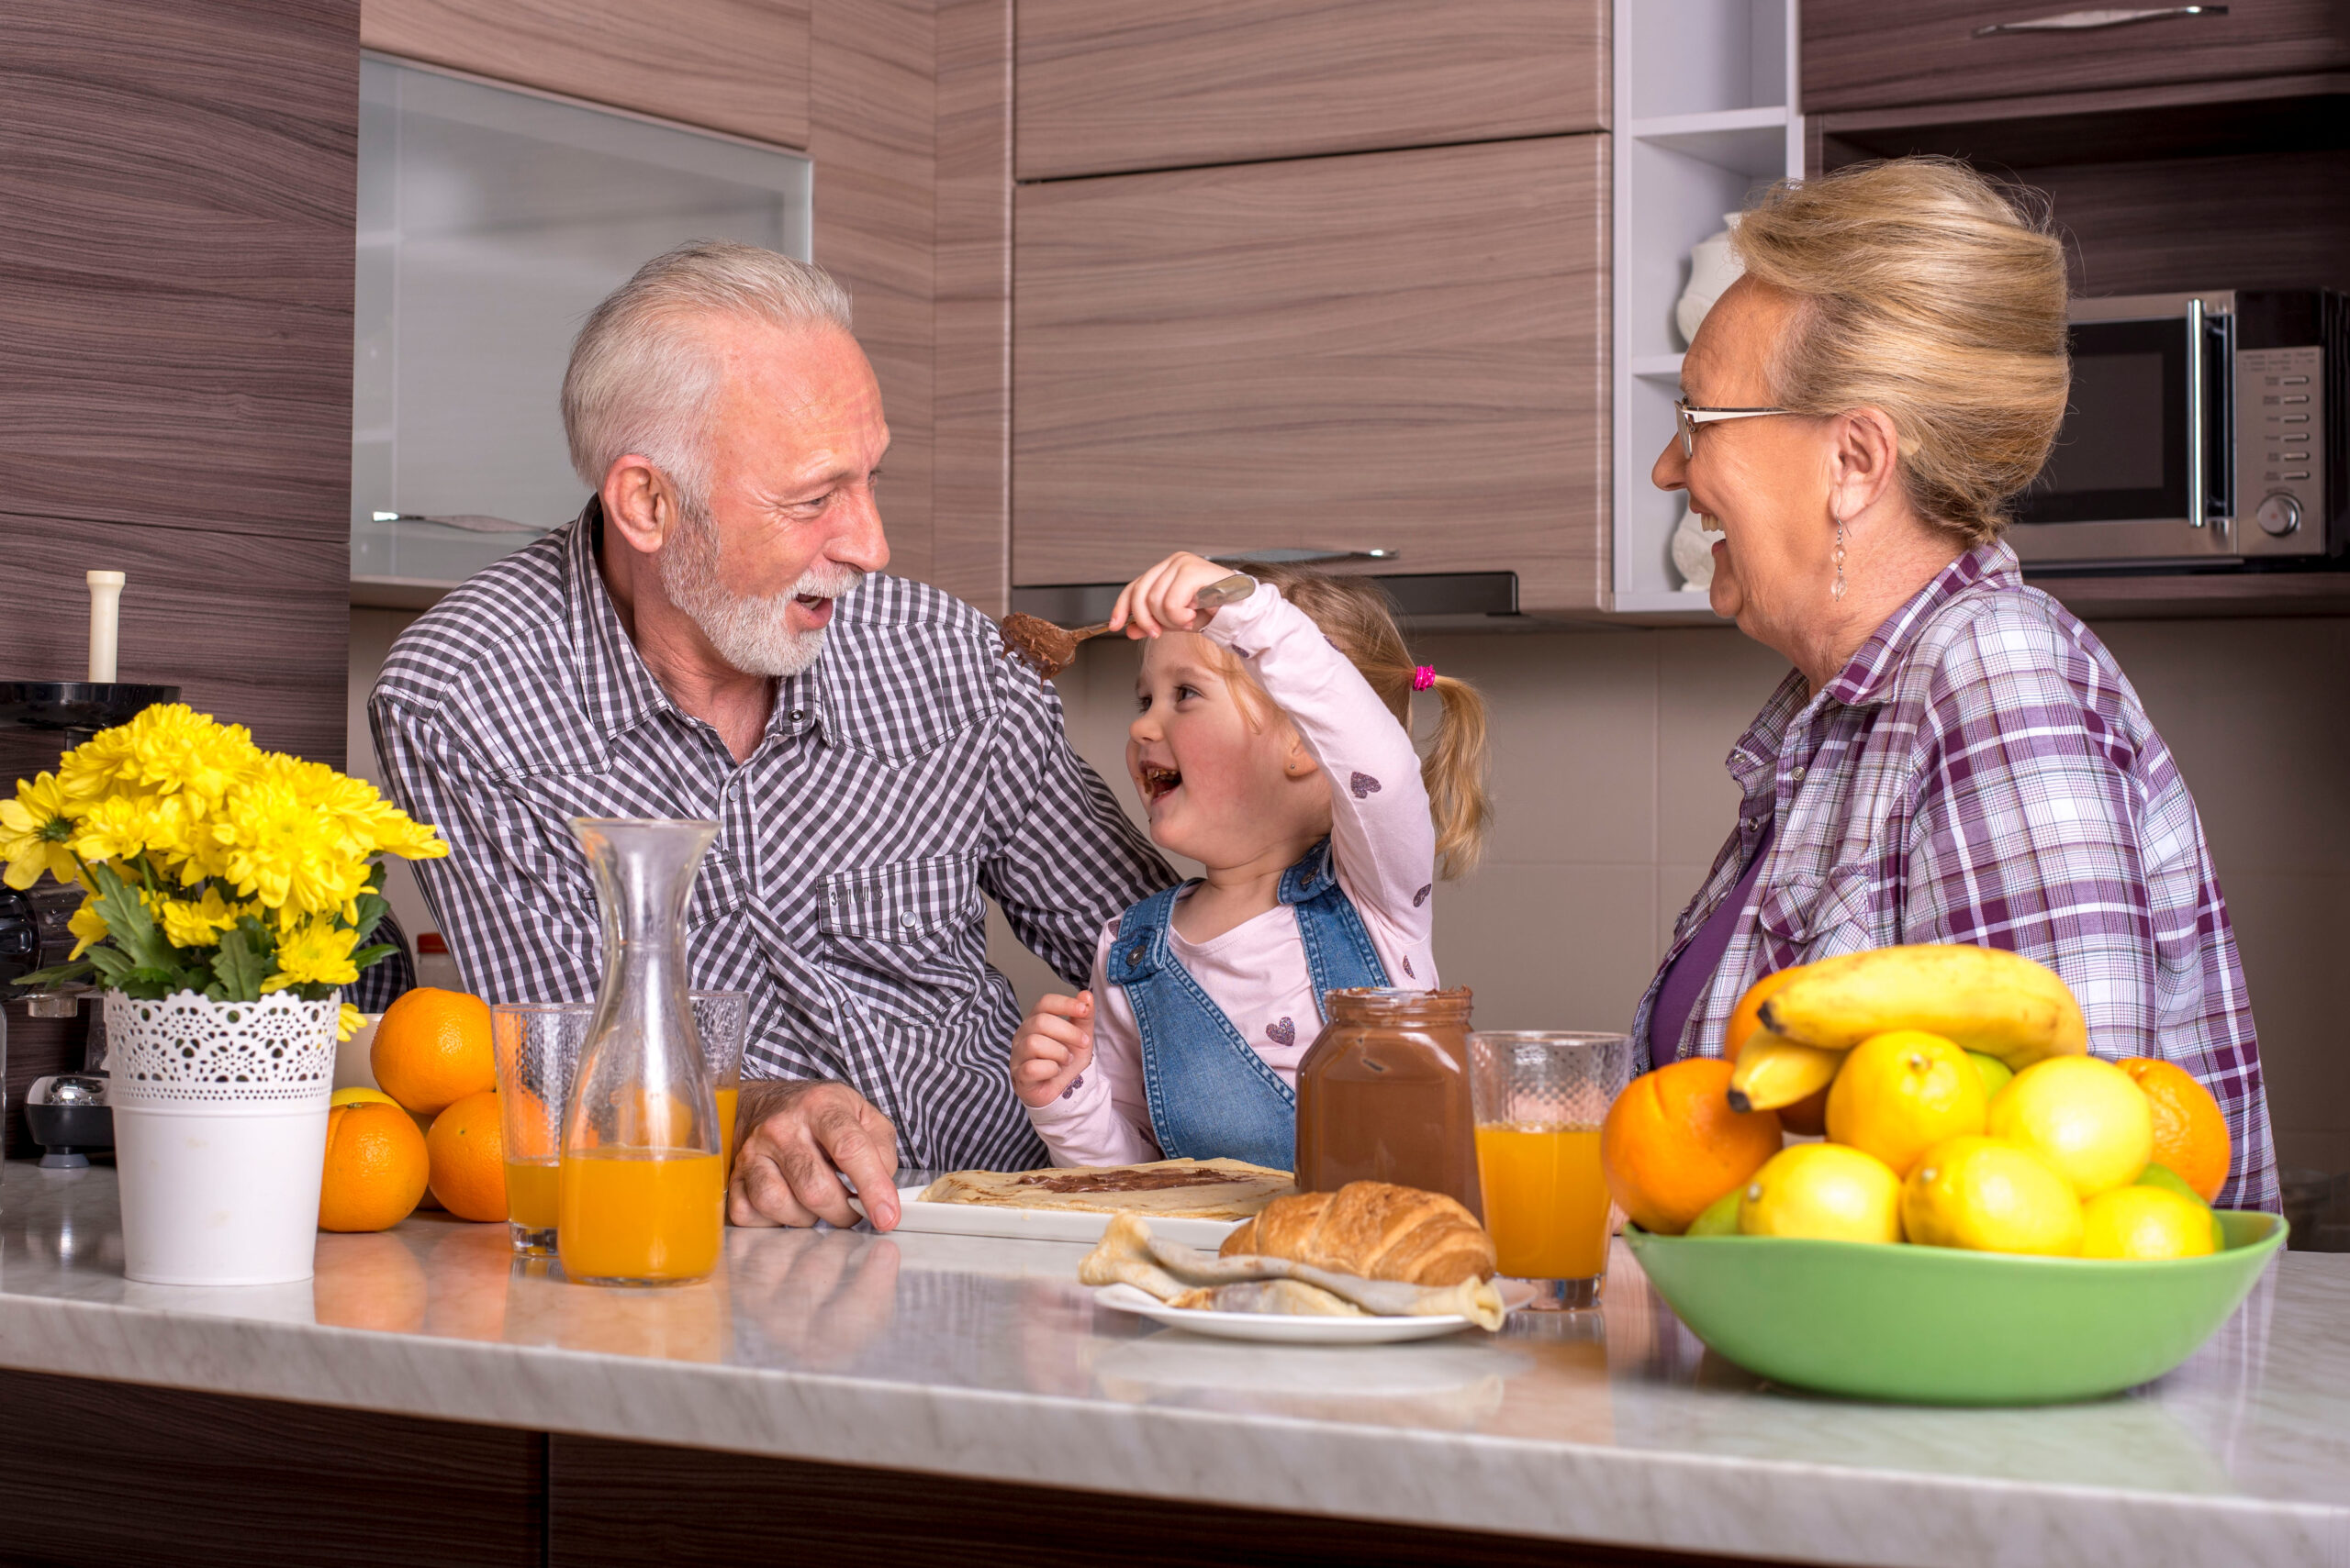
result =
M1361 671L1347 662L1304 610L1260 584L1208 622L1206 636L1250 662L1257 683L1281 704L1314 761L1330 775L1330 857L1337 885L1363 918L1379 962L1396 986L1429 986L1436 883L1436 826L1419 782L1419 753ZM1187 894L1189 897L1189 894ZM1135 1164L1159 1160L1142 1094L1142 1035L1123 986L1102 979L1119 922L1093 948L1093 1063L1029 1122L1053 1164ZM1297 1063L1321 1033L1321 1009L1307 974L1297 911L1276 906L1210 941L1168 946L1191 979L1224 1009L1250 1049L1281 1082L1297 1087Z

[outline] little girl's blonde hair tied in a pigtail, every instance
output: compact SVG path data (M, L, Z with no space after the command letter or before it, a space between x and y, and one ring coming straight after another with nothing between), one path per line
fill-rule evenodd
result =
M1281 589L1281 596L1307 613L1330 646L1363 671L1370 690L1405 730L1412 728L1412 650L1403 643L1386 594L1368 577L1330 577L1297 566L1250 566L1248 575ZM1246 690L1257 690L1246 664L1229 660ZM1429 815L1436 817L1436 869L1443 878L1469 876L1485 852L1485 826L1492 800L1485 793L1485 699L1466 681L1436 676L1429 688L1443 704L1436 739L1419 761L1419 779L1429 789ZM1257 692L1262 697L1262 690Z

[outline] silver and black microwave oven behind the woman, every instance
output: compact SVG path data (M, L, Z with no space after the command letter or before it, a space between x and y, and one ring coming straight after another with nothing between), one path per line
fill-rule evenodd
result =
M2073 300L2073 397L2007 538L2047 570L2343 566L2350 296Z

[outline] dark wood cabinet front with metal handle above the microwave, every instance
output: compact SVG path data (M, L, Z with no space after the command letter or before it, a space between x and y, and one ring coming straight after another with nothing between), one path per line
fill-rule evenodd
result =
M2350 66L2341 0L2235 0L2225 14L1974 38L1986 23L2075 9L2070 0L1805 0L1802 113Z

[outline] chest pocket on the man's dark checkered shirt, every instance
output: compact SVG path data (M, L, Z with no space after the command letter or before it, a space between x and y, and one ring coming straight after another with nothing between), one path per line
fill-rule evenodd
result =
M971 988L982 946L980 873L968 859L909 859L825 878L822 962L888 1012L935 1012Z

